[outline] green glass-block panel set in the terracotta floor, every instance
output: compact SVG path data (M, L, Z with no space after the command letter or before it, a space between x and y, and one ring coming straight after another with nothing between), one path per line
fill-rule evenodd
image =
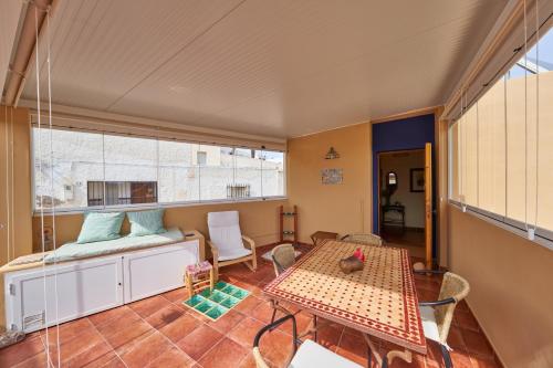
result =
M236 307L249 294L250 292L247 290L220 281L215 285L212 292L206 288L201 293L184 301L182 305L205 315L211 320L217 320Z

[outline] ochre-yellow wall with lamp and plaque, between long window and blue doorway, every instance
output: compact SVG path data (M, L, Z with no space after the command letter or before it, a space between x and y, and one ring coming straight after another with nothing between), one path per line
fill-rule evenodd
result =
M326 160L330 147L340 158ZM317 230L346 234L371 231L371 124L359 124L290 139L289 203L299 211L299 238ZM343 169L341 185L322 185L321 169Z

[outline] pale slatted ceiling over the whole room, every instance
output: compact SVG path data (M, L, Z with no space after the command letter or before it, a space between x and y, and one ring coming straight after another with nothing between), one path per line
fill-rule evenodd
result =
M444 103L504 4L60 0L53 101L274 137L335 128Z

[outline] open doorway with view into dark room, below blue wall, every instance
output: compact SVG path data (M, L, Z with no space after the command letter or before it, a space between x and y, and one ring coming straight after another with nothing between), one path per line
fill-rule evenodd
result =
M378 154L379 233L390 246L424 259L425 150Z

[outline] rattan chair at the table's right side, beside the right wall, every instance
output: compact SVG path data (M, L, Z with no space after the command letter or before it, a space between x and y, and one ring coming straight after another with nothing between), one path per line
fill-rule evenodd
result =
M415 273L421 274L441 274L442 271L420 270ZM447 338L453 312L457 303L462 301L469 294L470 285L467 280L461 276L446 272L441 283L440 294L436 302L419 303L420 317L422 318L422 329L427 339L434 340L440 345L441 356L447 368L452 367L451 357L449 355L449 346Z

